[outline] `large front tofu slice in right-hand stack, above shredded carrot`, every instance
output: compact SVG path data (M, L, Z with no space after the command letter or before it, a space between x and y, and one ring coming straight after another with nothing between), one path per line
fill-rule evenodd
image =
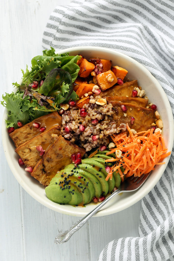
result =
M131 103L116 101L111 101L110 103L115 108L113 120L116 122L116 128L122 123L128 123L131 129L140 132L148 130L152 127L152 124L155 123L155 112L152 109L136 106ZM127 110L123 111L122 106L125 106ZM131 117L135 118L133 123L131 123Z

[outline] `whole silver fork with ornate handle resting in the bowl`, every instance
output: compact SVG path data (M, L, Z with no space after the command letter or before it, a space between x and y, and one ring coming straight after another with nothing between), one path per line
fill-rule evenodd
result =
M128 177L124 182L121 183L121 185L118 187L116 191L114 191L103 202L101 202L93 210L91 210L91 212L89 212L84 217L80 218L68 230L58 234L54 241L55 244L62 244L64 242L67 242L70 239L70 237L88 221L90 217L92 217L95 213L97 213L99 209L101 209L101 207L103 207L115 195L121 192L135 191L136 189L140 188L141 185L147 179L148 175L149 174L142 175L141 177L134 177L134 176Z

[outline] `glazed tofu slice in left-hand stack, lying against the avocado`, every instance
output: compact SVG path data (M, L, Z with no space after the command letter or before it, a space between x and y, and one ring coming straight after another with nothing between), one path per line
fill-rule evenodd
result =
M58 139L50 146L43 158L38 161L30 174L42 185L48 186L57 171L64 169L65 166L72 162L71 155L78 152L81 153L82 157L85 155L83 148L72 144L69 140L65 140L59 135Z

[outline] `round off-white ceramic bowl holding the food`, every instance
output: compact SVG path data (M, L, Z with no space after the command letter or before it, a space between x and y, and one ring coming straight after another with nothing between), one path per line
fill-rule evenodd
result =
M81 54L87 58L99 57L101 59L112 60L113 65L121 66L128 70L129 79L137 79L139 86L146 91L146 95L149 98L149 102L157 105L158 112L160 113L161 119L163 120L163 137L165 145L168 151L172 150L173 139L174 139L174 125L173 116L169 101L166 94L159 82L152 76L152 74L143 67L140 63L134 59L111 49L99 48L99 47L76 47L61 50L58 53L69 52L70 55ZM67 215L72 216L84 216L91 211L95 204L89 203L85 207L74 207L70 205L59 205L50 201L45 194L44 187L28 172L21 168L18 164L18 155L14 152L15 146L10 139L7 129L5 127L5 118L7 117L7 110L4 112L3 123L2 123L2 141L5 156L7 158L9 167L14 174L20 185L37 201L44 206ZM135 204L137 201L142 199L151 189L157 184L160 177L164 173L164 170L169 161L169 157L165 158L165 164L158 165L155 170L148 177L146 182L135 192L121 193L114 199L110 200L95 216L105 216L112 213L116 213L127 207Z

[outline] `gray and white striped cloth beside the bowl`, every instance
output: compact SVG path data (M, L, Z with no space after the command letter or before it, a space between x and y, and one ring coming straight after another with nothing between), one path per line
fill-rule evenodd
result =
M174 113L174 1L82 0L55 8L43 48L101 46L143 64L163 87ZM165 173L142 199L139 237L110 242L106 260L174 260L174 150Z

